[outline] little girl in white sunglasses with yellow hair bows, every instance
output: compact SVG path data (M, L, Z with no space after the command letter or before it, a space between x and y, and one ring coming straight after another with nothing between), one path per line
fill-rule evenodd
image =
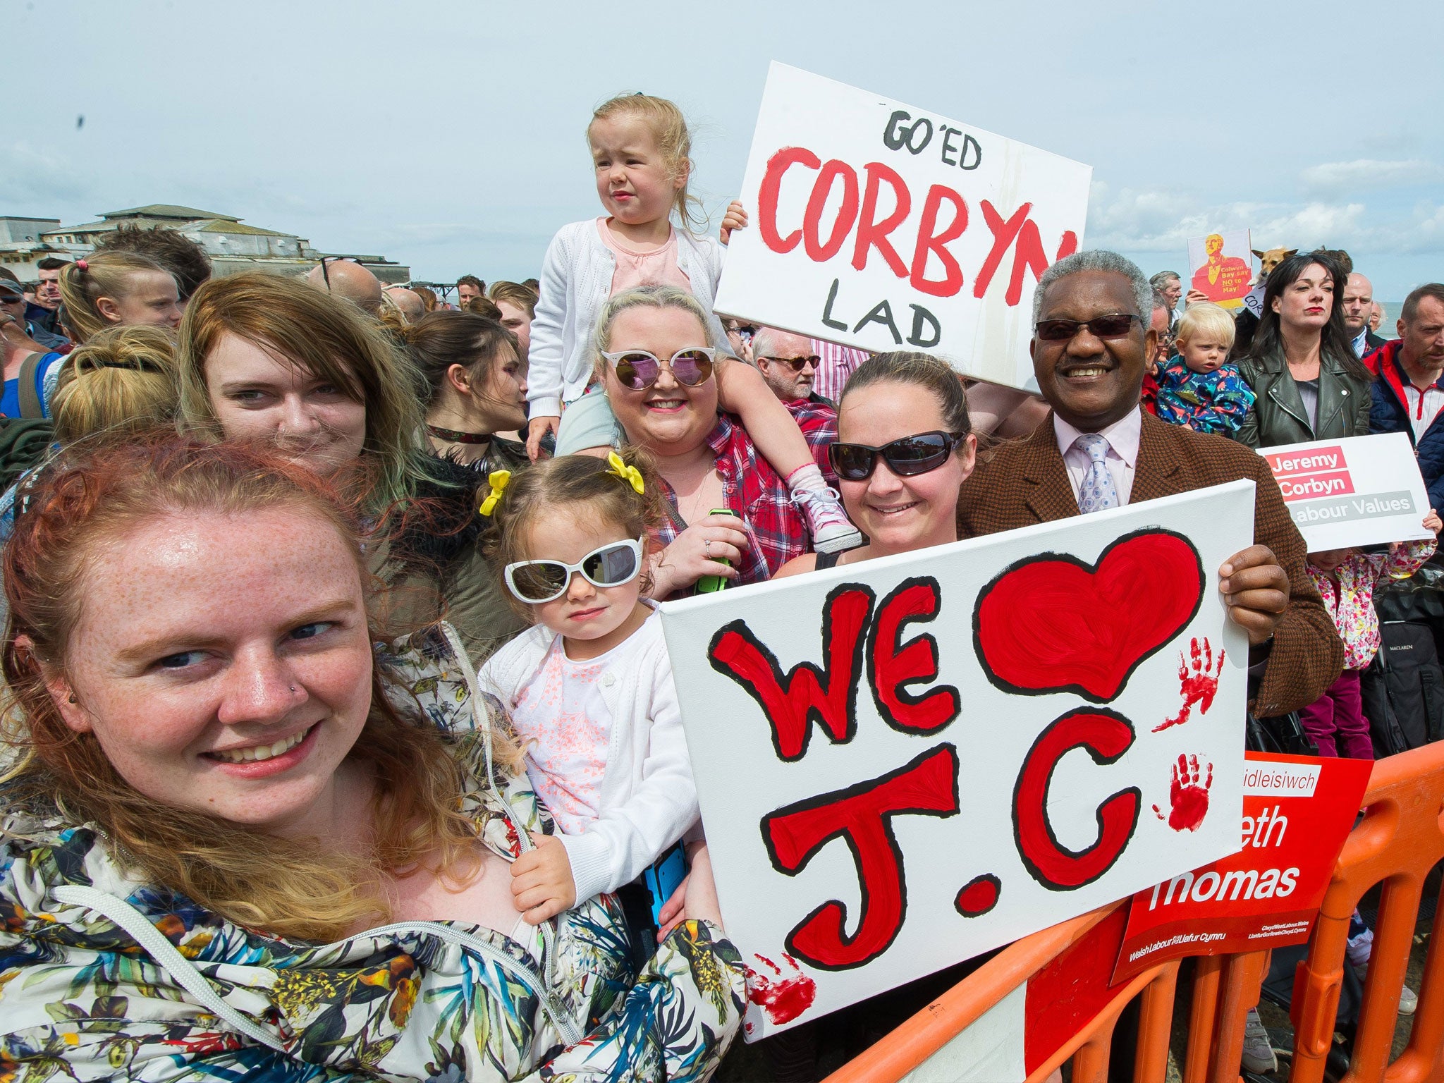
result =
M647 539L666 511L640 456L567 455L516 478L491 474L481 513L495 523L492 566L536 627L498 650L481 680L507 709L560 832L513 864L517 910L540 923L617 892L645 957L656 940L644 930L680 881L677 843L697 794L661 618L641 596Z

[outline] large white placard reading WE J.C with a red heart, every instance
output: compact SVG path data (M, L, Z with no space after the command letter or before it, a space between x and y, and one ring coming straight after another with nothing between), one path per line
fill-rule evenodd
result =
M1253 484L667 602L748 1040L1239 848Z

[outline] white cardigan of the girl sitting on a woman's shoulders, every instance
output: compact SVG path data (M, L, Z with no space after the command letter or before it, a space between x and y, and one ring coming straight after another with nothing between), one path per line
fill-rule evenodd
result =
M722 245L687 230L673 228L673 232L677 266L692 283L692 296L708 312L712 345L731 354L722 322L712 312L722 277ZM592 381L596 316L612 295L615 271L617 257L596 232L595 218L563 225L547 245L527 364L533 417L559 417L562 403L580 399Z

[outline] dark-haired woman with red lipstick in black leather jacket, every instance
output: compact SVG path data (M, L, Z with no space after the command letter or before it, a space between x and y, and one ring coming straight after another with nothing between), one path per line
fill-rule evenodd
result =
M1369 435L1369 371L1344 331L1343 273L1327 253L1279 263L1239 374L1253 409L1235 439L1251 448Z

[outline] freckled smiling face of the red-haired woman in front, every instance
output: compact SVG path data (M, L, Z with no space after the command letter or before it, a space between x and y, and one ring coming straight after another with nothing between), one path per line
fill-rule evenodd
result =
M334 526L162 514L97 546L81 598L51 693L136 790L277 830L331 791L371 705L361 569Z

